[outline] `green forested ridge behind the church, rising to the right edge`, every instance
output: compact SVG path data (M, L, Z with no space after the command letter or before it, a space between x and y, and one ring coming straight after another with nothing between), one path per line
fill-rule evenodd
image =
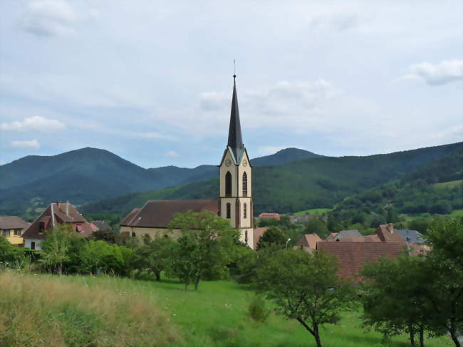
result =
M385 155L316 157L286 165L255 167L254 212L333 207L349 195L397 180L461 148L463 143L455 143ZM218 179L214 178L86 204L83 211L125 214L150 199L214 199L218 196L218 187Z

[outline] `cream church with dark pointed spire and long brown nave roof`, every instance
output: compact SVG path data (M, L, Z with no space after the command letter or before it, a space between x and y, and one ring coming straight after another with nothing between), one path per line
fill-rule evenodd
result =
M219 164L219 197L217 200L148 200L133 209L120 222L120 232L135 237L147 234L155 237L166 232L177 213L209 210L239 229L241 242L253 248L252 167L241 136L236 75L233 76L233 96L227 148Z

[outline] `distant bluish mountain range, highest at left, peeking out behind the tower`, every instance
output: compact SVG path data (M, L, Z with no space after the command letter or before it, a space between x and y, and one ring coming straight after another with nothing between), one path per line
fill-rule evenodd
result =
M251 160L255 166L279 165L311 152L288 148L275 155ZM29 155L0 166L0 214L24 215L56 200L73 204L116 197L129 192L165 187L217 177L215 165L145 169L108 150L85 147L60 155Z

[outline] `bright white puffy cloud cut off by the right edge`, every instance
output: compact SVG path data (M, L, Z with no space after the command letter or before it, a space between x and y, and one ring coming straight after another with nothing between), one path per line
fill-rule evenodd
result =
M427 62L415 64L410 67L410 72L404 76L405 79L423 79L432 86L463 80L463 59L442 61L435 65Z

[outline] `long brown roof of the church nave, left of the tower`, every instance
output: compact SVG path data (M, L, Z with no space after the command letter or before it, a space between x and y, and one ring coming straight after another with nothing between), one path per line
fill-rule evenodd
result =
M167 228L175 214L187 211L219 213L219 200L148 200L120 223L125 227Z

